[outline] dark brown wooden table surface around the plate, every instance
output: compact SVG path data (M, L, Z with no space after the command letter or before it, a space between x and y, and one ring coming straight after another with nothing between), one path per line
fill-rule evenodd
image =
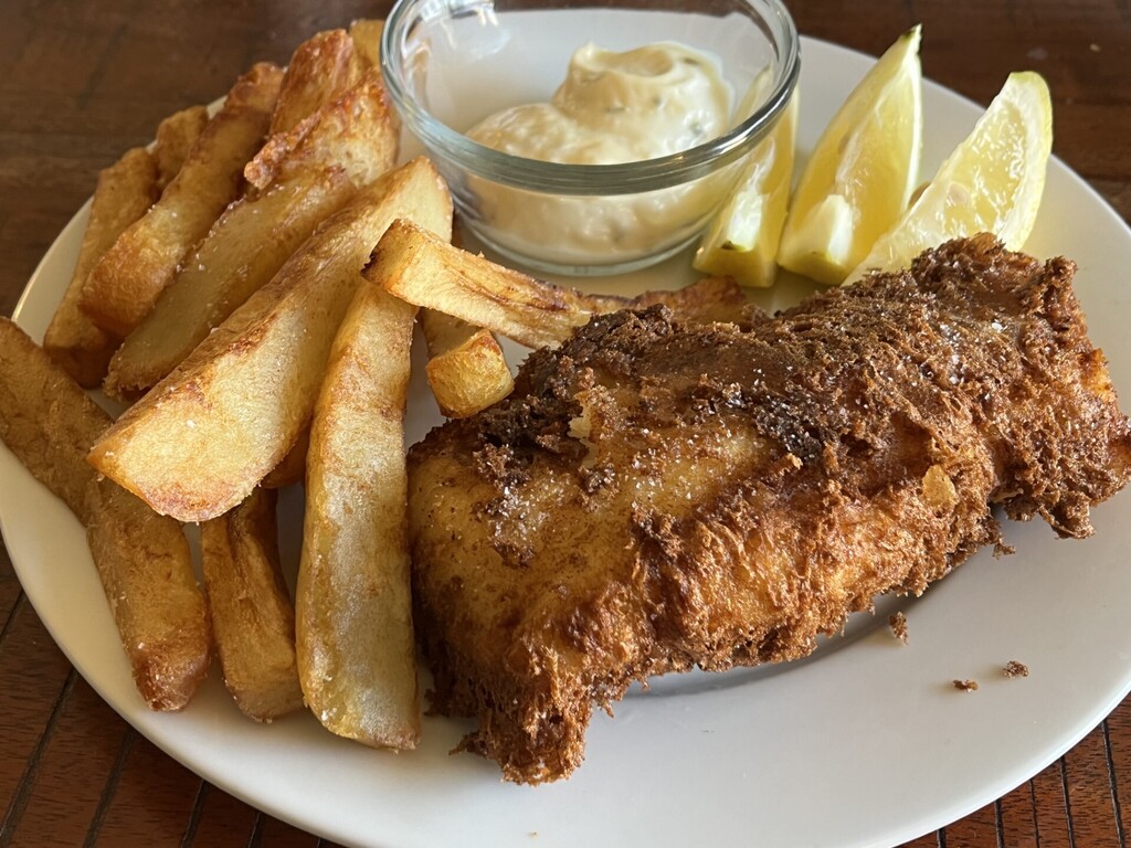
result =
M363 0L3 0L0 3L0 313L94 188L157 121L223 94L254 60L387 3ZM791 3L806 35L873 55L924 24L926 76L982 104L1034 68L1054 98L1054 152L1131 219L1128 0ZM1123 284L1114 280L1113 284ZM2 482L0 482L2 485ZM167 758L76 674L0 548L0 848L307 846ZM1048 769L910 845L1124 846L1131 699Z

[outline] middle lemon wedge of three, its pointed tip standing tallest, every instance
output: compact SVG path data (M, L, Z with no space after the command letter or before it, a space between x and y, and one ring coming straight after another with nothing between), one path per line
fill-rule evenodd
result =
M782 233L783 268L843 283L906 210L923 135L921 34L888 47L818 139Z

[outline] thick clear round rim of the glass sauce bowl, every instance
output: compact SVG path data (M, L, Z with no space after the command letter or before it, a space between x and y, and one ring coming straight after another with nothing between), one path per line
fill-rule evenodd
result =
M420 104L409 93L403 73L402 45L405 36L425 16L433 17L429 15L433 10L449 16L482 15L493 10L494 0L443 0L439 3L437 0L397 0L381 33L381 71L392 102L409 131L430 154L475 176L518 189L559 194L634 194L666 189L707 176L745 156L774 128L796 88L801 73L801 37L785 3L783 0L742 1L766 21L769 42L778 53L772 88L761 105L729 131L701 145L653 159L585 165L515 156L473 141ZM654 9L625 7L622 10Z

